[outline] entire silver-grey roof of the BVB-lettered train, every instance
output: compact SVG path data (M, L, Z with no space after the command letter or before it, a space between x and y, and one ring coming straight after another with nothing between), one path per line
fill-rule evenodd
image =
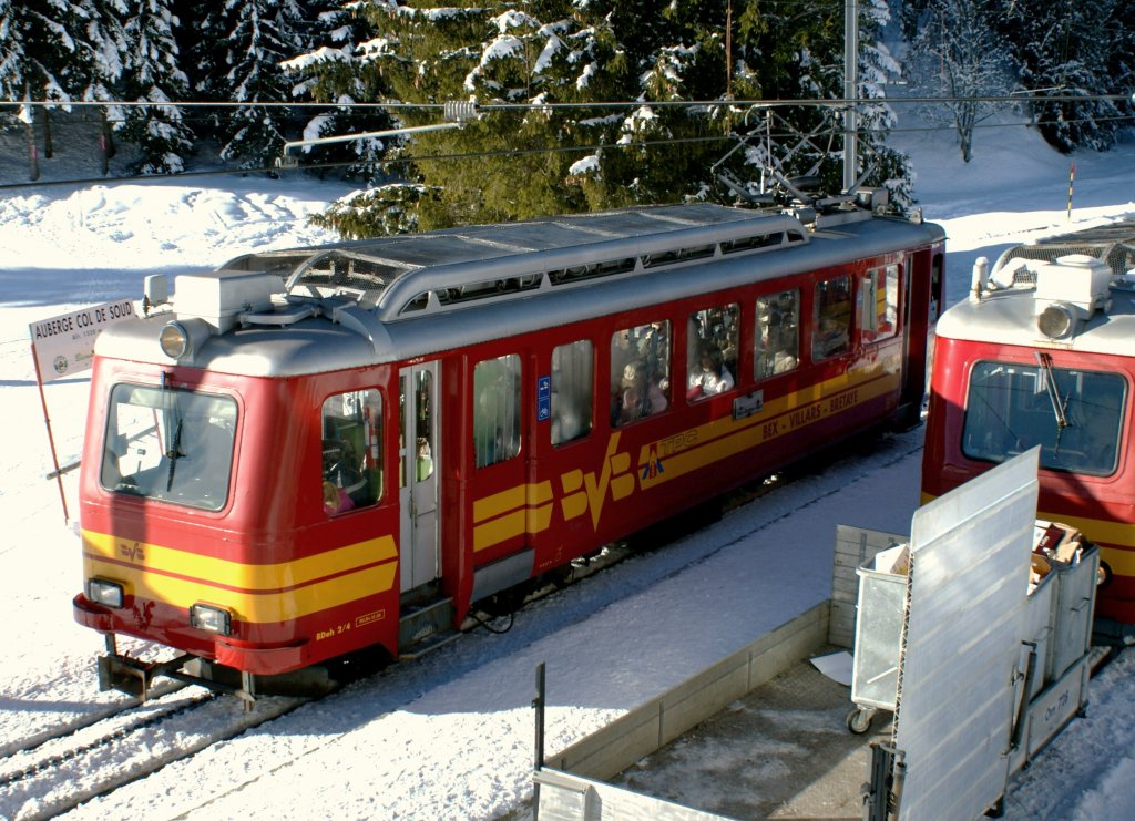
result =
M100 356L289 375L395 362L944 239L864 209L814 215L661 205L262 252L179 276L171 305L100 335ZM190 330L192 331L193 328ZM193 336L191 333L191 336ZM183 359L184 361L184 359Z

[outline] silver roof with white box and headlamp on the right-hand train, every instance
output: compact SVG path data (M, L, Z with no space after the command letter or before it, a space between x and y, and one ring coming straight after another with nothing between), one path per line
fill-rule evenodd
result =
M938 322L940 338L1130 356L1135 350L1135 226L1111 226L1004 252L975 265L967 299ZM1058 316L1051 336L1042 318ZM1045 329L1049 333L1045 333Z

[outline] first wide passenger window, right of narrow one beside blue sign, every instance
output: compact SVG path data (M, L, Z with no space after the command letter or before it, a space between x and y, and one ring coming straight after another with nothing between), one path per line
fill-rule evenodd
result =
M611 424L621 428L670 407L670 321L611 337Z

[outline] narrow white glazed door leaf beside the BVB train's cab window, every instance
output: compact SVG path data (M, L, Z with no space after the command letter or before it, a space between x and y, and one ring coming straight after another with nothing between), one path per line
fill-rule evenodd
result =
M403 593L439 574L437 371L437 362L421 363L402 369L398 379Z

